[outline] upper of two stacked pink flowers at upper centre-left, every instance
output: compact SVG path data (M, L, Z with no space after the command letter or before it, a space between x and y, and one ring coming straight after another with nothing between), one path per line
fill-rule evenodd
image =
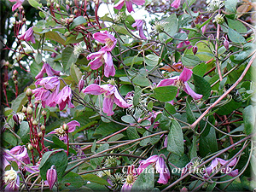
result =
M95 38L98 42L102 44L106 44L102 49L105 51L111 51L115 47L117 40L113 37L113 35L109 34L107 31L105 32L96 32L93 34L93 38Z

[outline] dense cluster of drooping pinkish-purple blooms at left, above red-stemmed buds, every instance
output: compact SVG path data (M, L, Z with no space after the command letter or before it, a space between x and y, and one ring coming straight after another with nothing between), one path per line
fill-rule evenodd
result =
M44 78L44 73L47 73L48 77ZM63 110L66 105L68 108L74 108L73 103L71 102L72 90L68 85L60 90L60 79L58 75L61 72L55 71L48 63L44 63L44 66L41 69L41 72L36 76L36 86L40 85L41 87L32 90L32 93L35 94L35 99L42 102L42 106L45 108L45 105L54 108L57 104L59 105L60 110Z

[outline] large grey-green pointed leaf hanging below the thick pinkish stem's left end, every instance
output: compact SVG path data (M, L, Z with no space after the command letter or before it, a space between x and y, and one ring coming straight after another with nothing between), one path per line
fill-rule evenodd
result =
M180 156L184 154L183 130L175 119L172 119L172 125L167 139L168 151Z

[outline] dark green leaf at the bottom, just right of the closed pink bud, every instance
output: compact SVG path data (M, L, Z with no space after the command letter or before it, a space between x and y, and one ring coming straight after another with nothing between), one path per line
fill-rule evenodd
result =
M82 187L85 181L83 177L81 177L78 173L68 172L67 175L62 177L59 183L61 191L64 191L65 189L70 189L71 191L74 191ZM66 183L68 183L68 185L66 185Z

